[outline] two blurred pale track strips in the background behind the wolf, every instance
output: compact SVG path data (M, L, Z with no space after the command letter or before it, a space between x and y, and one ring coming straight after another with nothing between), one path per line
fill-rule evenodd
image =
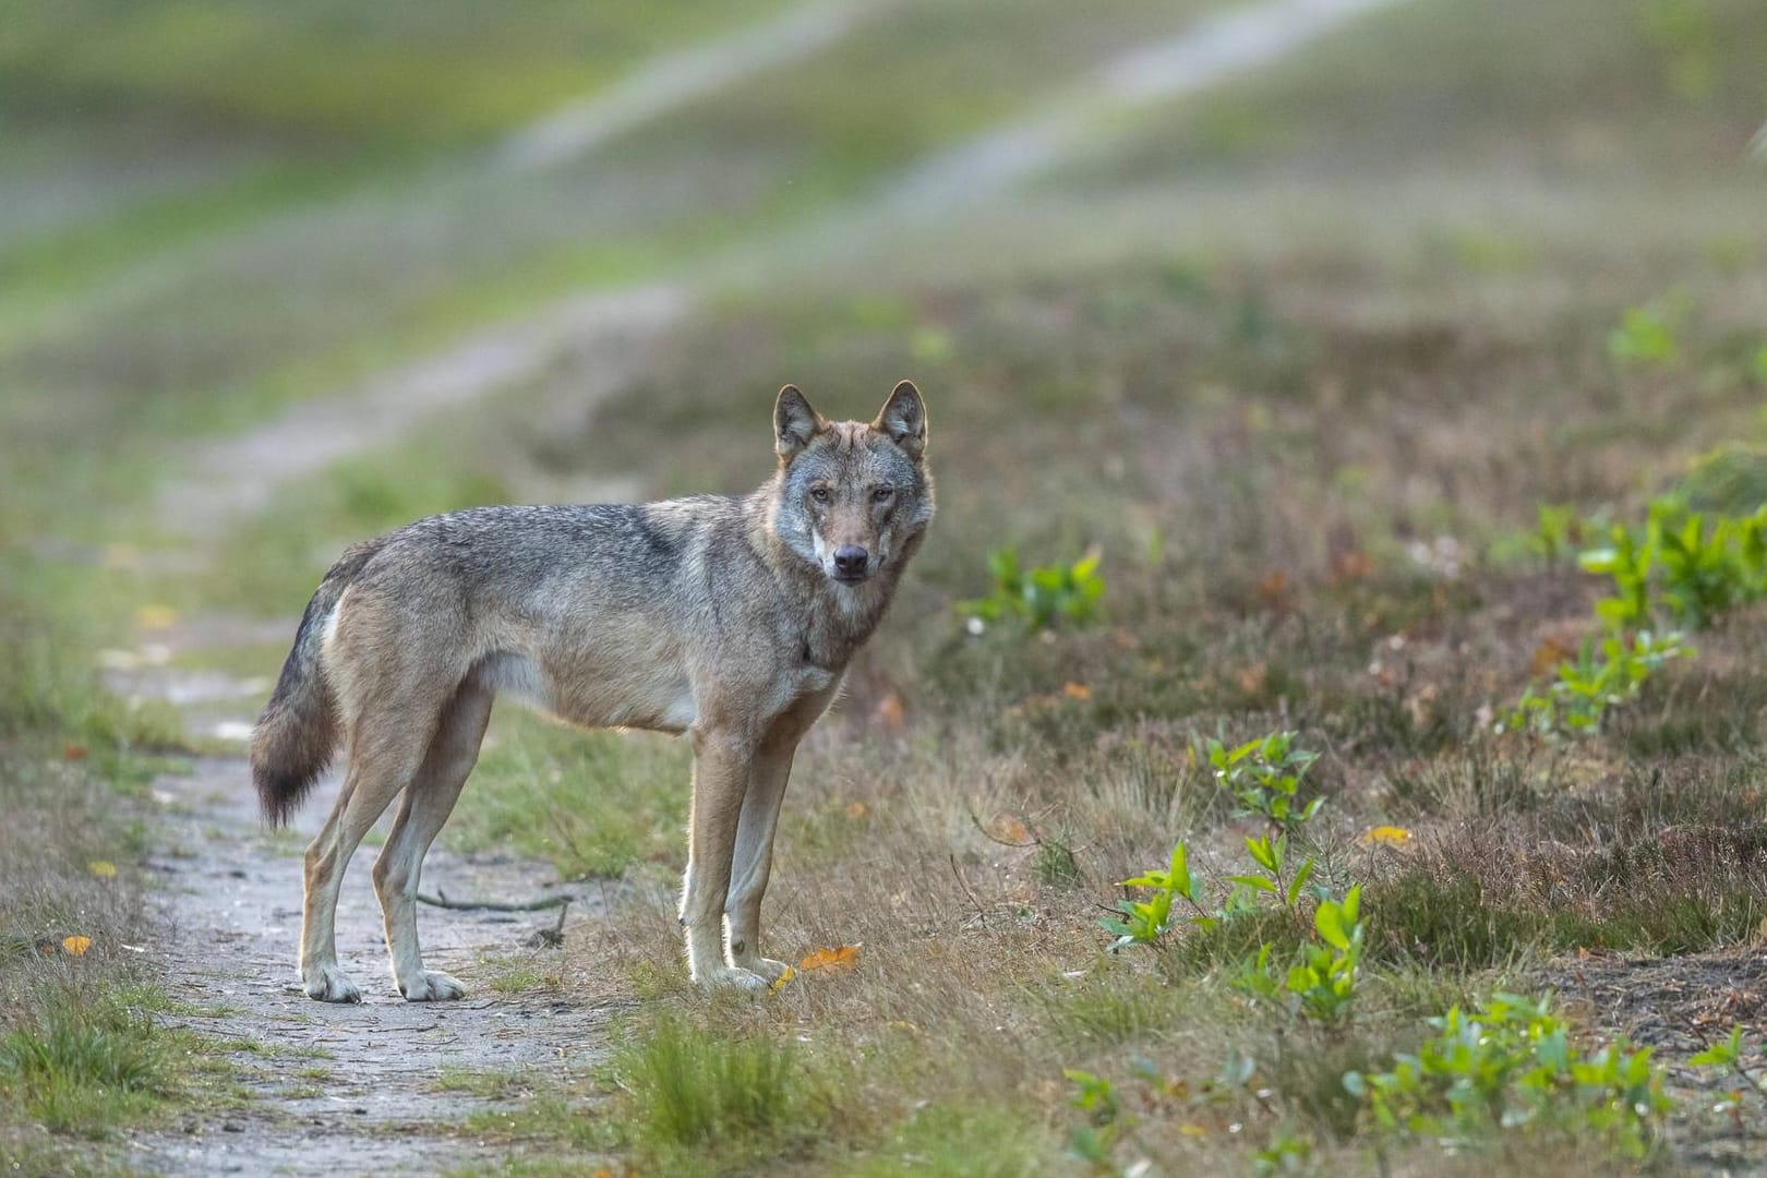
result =
M786 237L769 233L707 258L691 283L654 283L562 300L362 387L300 403L246 434L207 445L187 457L189 473L163 493L161 516L182 535L216 535L269 503L277 487L364 449L389 445L435 413L530 380L565 350L594 357L594 364L581 366L594 373L594 381L576 390L580 404L594 404L640 373L650 348L707 291L781 267L815 265L815 258L850 254L866 242L889 238L903 221L961 212L1066 154L1085 150L1090 132L1113 113L1269 65L1343 21L1396 2L1263 0L1198 19L1175 37L1110 62L1081 87L1025 118L922 162L875 200L797 226ZM631 94L618 88L514 136L493 154L491 166L535 168L592 150L615 131L666 113L679 101L830 44L882 7L857 0L808 4L758 30L663 58L634 76ZM760 37L767 28L776 32L777 44Z

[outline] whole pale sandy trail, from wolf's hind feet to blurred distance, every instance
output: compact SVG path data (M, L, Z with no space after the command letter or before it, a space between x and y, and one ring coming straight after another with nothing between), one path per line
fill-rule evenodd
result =
M1140 104L1210 85L1306 44L1338 19L1387 0L1267 0L1248 5L1235 21L1202 21L1187 34L1149 46L1106 71L1110 102L1083 111L1096 117L1111 104ZM871 5L815 4L795 28L799 51L829 39L841 21L859 19ZM1274 37L1285 21L1302 19L1306 35ZM820 21L820 23L818 23ZM1223 23L1226 21L1226 23ZM1249 32L1248 32L1249 30ZM1262 30L1262 32L1260 32ZM825 42L825 41L823 41ZM751 42L730 44L756 53ZM806 48L808 46L808 48ZM762 55L765 57L765 55ZM694 76L716 74L698 65ZM663 72L666 76L666 71ZM636 83L634 83L636 85ZM650 83L647 83L650 85ZM686 85L677 79L675 85ZM664 87L666 88L666 87ZM537 127L527 147L516 141L502 166L546 166L592 150L611 131L663 109L663 94L643 87L636 97L564 113L550 129ZM1074 113L1073 118L1080 118ZM246 434L221 440L186 461L187 475L159 500L166 526L198 546L270 502L293 479L320 473L341 457L398 442L436 413L459 410L479 397L532 380L565 350L592 357L595 373L580 403L608 396L641 374L652 350L693 311L705 291L770 260L777 268L806 251L852 249L876 240L889 219L935 217L977 194L1000 191L1074 147L1080 122L1048 113L1002 127L929 161L882 198L800 230L795 238L769 238L726 251L696 270L693 283L652 284L578 297L516 323L472 336L438 355L405 366L368 385L320 397ZM191 620L201 631L201 620ZM292 634L293 627L288 625ZM212 678L212 676L210 676ZM186 705L240 708L260 692L239 685L187 682L177 673L145 675L134 691ZM214 721L216 717L209 717ZM247 717L228 715L235 726ZM246 765L207 759L187 777L157 784L166 802L164 850L150 858L166 881L168 933L147 950L170 978L175 998L205 1010L180 1021L263 1044L270 1054L239 1053L251 1074L254 1100L239 1109L200 1114L184 1132L134 1141L143 1169L168 1174L223 1173L438 1173L459 1164L495 1166L507 1150L475 1141L461 1127L493 1102L461 1091L440 1091L444 1069L507 1072L527 1069L548 1090L580 1077L606 1049L610 1010L574 1007L550 994L489 993L484 959L519 950L550 927L553 913L497 915L421 910L428 959L470 987L459 1003L410 1005L387 977L378 904L369 888L373 848L357 855L339 908L339 955L364 987L359 1007L307 1000L293 984L300 925L300 855L318 828L334 789L300 814L306 837L269 837L258 821ZM424 871L426 890L484 899L530 899L555 885L550 867L505 857L463 858L436 850ZM573 925L590 918L573 908ZM214 1014L209 1008L219 1007ZM302 1051L323 1053L299 1058ZM292 1054L295 1053L295 1054ZM300 1077L323 1069L325 1079ZM316 1074L315 1074L316 1076Z

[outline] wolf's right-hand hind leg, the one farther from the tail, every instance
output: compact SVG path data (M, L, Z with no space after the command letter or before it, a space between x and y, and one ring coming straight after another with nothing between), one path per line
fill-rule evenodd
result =
M405 789L387 846L375 860L375 894L387 920L392 980L406 1001L465 998L466 987L436 970L424 970L417 943L417 881L424 855L454 811L461 786L479 759L484 726L491 719L491 689L466 682L442 710L424 763Z

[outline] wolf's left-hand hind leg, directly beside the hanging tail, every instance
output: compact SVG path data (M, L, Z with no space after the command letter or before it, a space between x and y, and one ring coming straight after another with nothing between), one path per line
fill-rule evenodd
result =
M300 982L320 1001L362 1001L362 991L337 968L337 892L350 857L392 798L417 772L429 729L412 731L387 717L357 726L350 772L337 804L306 855L306 902L300 917Z

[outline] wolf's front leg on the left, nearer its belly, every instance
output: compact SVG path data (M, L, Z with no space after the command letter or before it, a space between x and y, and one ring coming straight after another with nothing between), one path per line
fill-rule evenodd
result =
M758 973L724 964L724 897L753 756L746 740L716 729L693 731L693 816L680 924L687 933L687 970L705 987L767 989Z

